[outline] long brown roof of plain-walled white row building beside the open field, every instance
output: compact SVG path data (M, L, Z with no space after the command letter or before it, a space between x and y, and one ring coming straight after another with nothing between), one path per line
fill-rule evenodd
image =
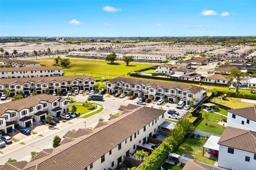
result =
M62 70L59 66L35 66L35 67L5 67L0 68L0 72L11 71L43 71L43 70Z

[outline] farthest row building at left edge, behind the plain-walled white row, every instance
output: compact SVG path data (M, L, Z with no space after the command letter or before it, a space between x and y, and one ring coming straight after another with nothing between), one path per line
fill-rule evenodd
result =
M35 67L41 66L39 62L28 60L14 60L9 58L0 58L0 66L12 66L12 67Z

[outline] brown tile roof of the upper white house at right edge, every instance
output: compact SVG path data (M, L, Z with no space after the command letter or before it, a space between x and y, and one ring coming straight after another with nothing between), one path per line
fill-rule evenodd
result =
M229 109L227 111L256 122L256 106Z

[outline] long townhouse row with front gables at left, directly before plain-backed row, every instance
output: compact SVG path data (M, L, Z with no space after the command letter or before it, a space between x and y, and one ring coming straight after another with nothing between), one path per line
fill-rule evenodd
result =
M10 96L19 94L31 94L33 90L37 94L44 94L49 88L50 94L58 92L59 89L68 91L76 90L95 90L95 80L89 75L70 75L58 77L34 77L34 78L13 78L0 79L0 95L5 90L10 91Z

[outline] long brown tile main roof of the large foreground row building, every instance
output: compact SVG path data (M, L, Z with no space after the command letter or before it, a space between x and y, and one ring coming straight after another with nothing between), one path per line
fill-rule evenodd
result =
M51 155L29 162L23 169L34 166L37 170L83 169L164 113L150 107L134 109L94 129L93 133L54 148Z

